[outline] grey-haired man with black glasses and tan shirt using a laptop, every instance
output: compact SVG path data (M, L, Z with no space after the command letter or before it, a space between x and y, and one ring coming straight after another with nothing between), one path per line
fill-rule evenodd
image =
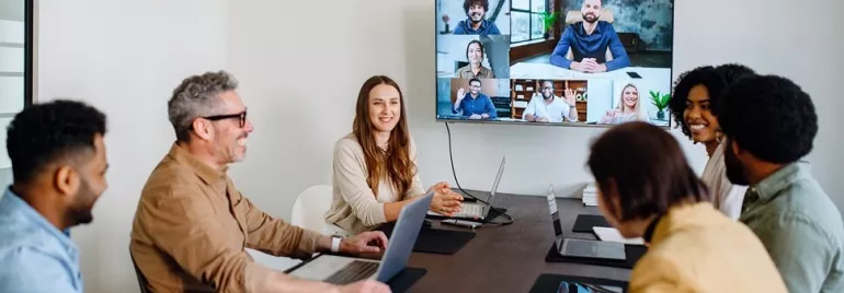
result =
M389 292L373 280L345 286L296 279L256 263L253 248L307 258L380 253L387 237L329 237L255 208L226 174L254 128L225 71L185 79L168 103L176 141L141 191L129 250L152 292Z

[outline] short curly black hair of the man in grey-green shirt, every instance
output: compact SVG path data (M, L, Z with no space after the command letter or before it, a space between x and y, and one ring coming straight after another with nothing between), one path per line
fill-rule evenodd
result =
M741 78L717 109L725 136L765 162L797 162L811 152L818 134L811 97L783 77Z

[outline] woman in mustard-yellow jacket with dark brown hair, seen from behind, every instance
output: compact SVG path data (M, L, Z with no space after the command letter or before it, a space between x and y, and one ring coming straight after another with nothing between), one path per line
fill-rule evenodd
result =
M649 244L629 292L787 292L762 242L712 207L668 131L616 126L592 144L588 165L607 223Z

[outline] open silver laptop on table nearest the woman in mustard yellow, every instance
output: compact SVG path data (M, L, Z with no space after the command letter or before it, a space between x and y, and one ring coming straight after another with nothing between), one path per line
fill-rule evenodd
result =
M566 238L562 234L562 224L560 223L560 214L557 209L557 196L554 194L554 185L548 187L546 199L548 200L548 210L551 212L557 253L561 256L614 260L627 259L624 244L621 243Z

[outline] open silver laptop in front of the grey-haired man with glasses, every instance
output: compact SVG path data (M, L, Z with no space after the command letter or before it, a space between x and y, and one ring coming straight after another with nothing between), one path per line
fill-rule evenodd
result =
M432 198L433 192L429 192L401 208L399 220L396 222L387 244L387 250L380 261L320 255L298 268L294 268L288 273L303 279L320 280L333 284L349 284L364 279L375 279L379 282L389 281L404 269Z

